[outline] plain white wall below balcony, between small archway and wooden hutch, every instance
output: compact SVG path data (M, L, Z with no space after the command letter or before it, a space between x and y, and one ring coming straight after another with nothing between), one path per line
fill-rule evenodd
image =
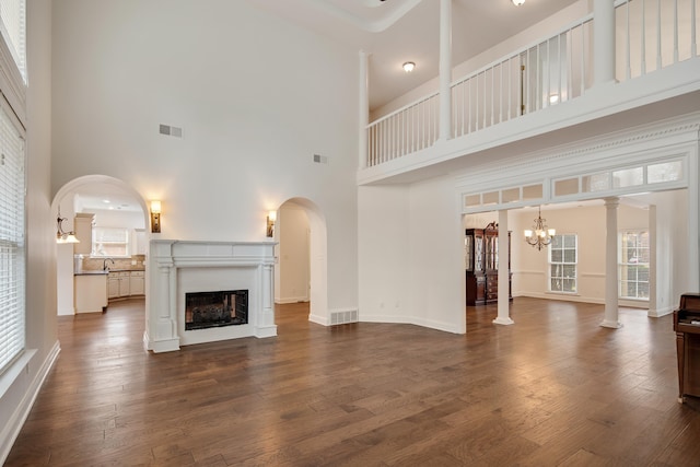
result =
M464 231L453 179L359 191L360 320L464 332Z

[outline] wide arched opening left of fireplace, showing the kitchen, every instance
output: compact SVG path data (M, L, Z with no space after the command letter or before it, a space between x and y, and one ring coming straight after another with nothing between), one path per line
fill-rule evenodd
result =
M58 315L97 312L103 297L145 299L148 209L132 187L105 175L79 177L58 190L51 211L81 242L57 244ZM95 290L103 279L104 296Z

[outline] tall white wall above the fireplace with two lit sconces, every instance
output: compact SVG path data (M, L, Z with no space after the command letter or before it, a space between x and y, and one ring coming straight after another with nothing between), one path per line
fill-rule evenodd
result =
M208 241L262 241L269 209L308 199L327 224L328 307L357 307L357 50L247 2L54 13L55 191L109 175L163 201L153 238Z

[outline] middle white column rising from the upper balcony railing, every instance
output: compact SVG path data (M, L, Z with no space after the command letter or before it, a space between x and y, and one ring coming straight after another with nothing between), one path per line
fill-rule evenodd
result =
M452 0L440 2L440 140L452 138Z

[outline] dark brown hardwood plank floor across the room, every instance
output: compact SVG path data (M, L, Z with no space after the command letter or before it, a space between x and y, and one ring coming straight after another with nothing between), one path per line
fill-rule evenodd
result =
M516 297L466 336L307 322L279 336L142 349L143 302L59 317L61 354L7 466L700 466L677 402L672 316Z

